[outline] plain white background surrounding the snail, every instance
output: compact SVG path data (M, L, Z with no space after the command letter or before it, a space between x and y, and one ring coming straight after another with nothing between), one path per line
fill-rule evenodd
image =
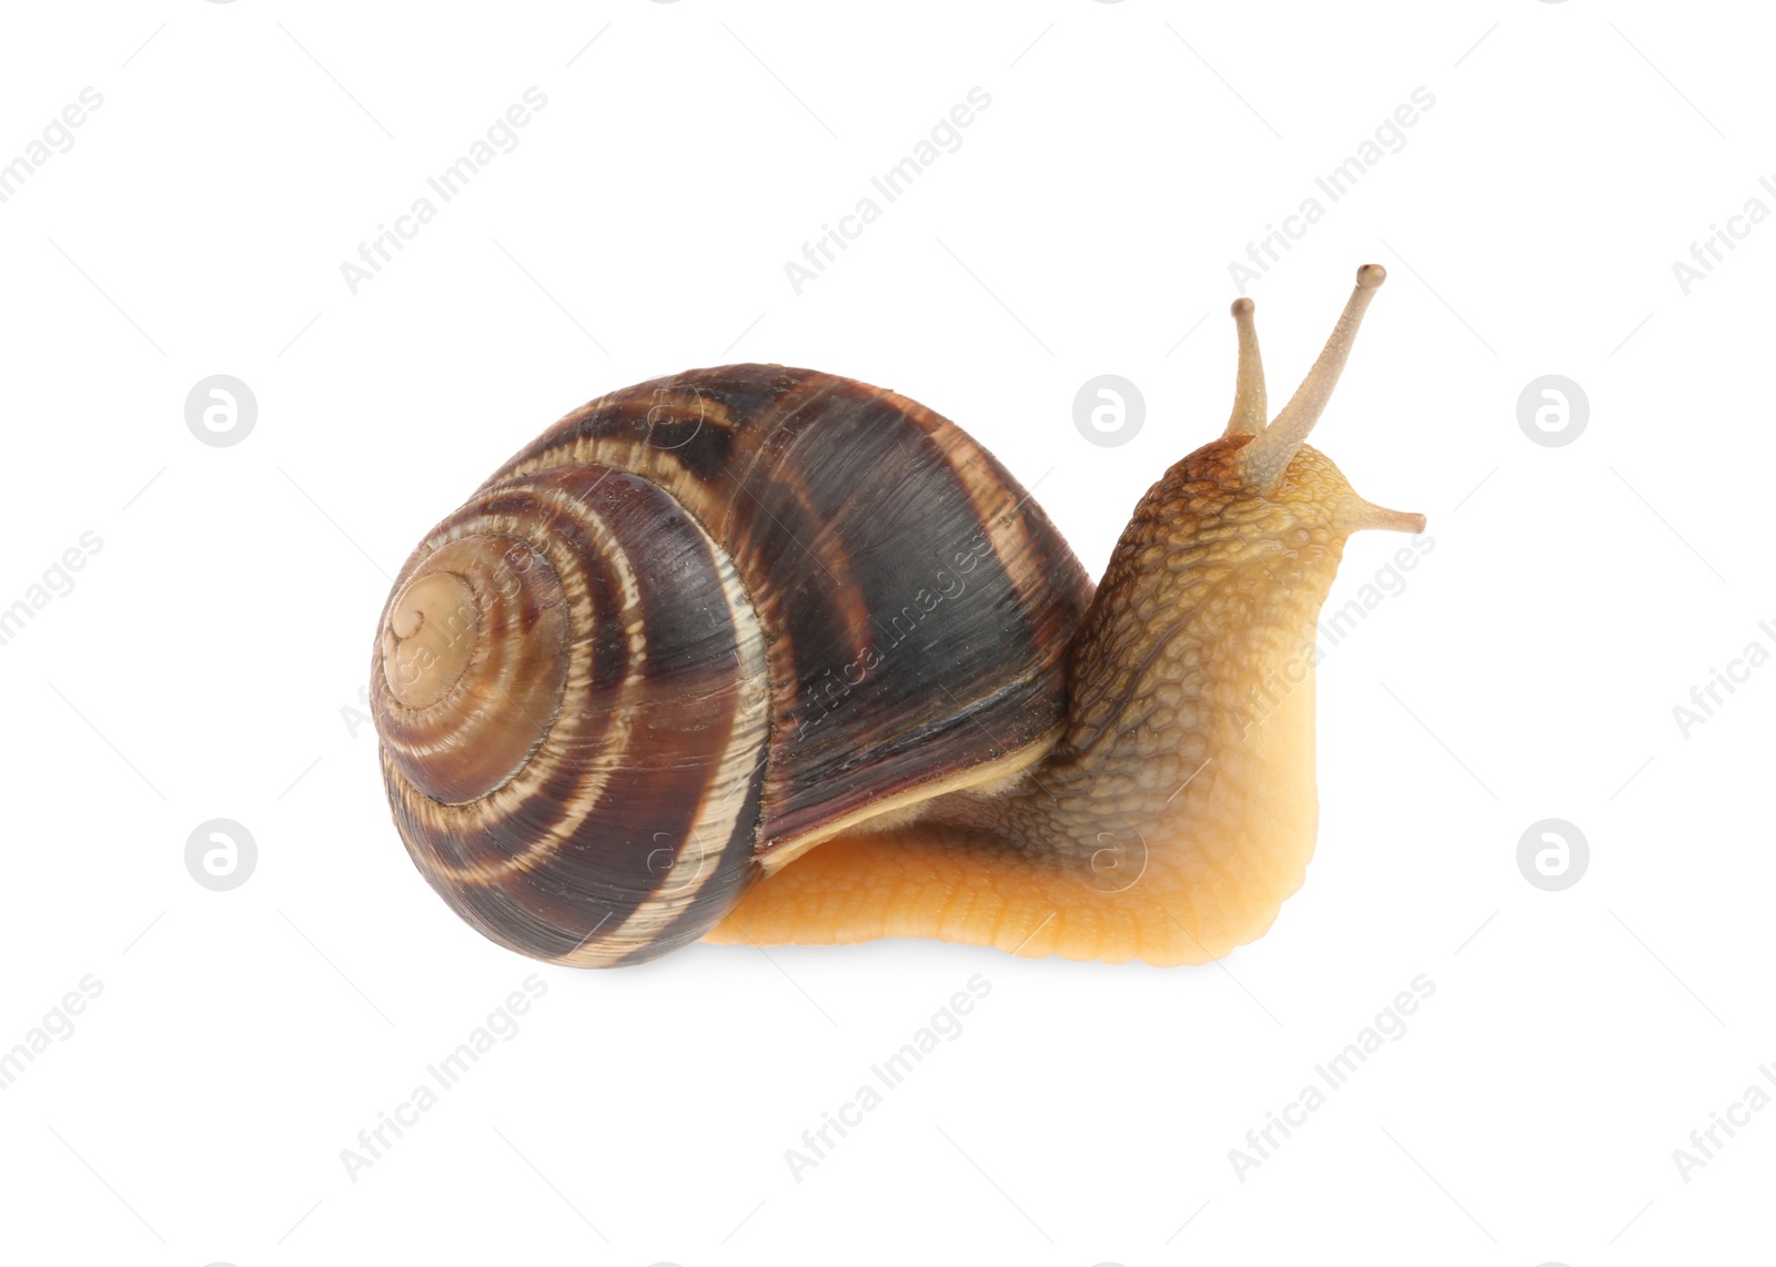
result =
M0 1091L0 1253L1767 1253L1776 1111L1687 1182L1673 1150L1776 1061L1776 669L1687 736L1671 710L1776 644L1776 227L1689 295L1671 264L1776 206L1771 37L1753 5L1590 0L11 7L0 161L103 106L0 204L0 607L103 547L0 646L0 1045L103 994ZM341 261L531 85L517 149L353 296ZM977 85L963 147L797 296L785 261ZM1268 937L1170 971L877 942L579 972L414 873L350 729L375 618L536 431L693 366L861 378L984 440L1096 573L1225 422L1229 261L1421 85L1407 146L1249 287L1280 401L1389 268L1314 442L1435 538L1321 665L1320 850ZM233 447L183 417L218 373L258 399ZM1073 426L1103 373L1146 397L1124 447ZM1547 373L1590 397L1565 447L1517 422ZM1332 602L1398 545L1355 538ZM1517 866L1549 816L1591 848L1561 893ZM185 868L210 818L258 841L231 893ZM353 1182L341 1150L533 971L517 1036ZM961 1036L792 1178L973 974ZM1407 1035L1236 1176L1417 974Z

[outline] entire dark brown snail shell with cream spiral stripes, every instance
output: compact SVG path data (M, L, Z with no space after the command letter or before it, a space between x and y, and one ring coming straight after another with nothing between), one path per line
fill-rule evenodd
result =
M394 822L494 940L652 958L774 861L1034 759L1090 591L902 396L783 366L639 383L401 568L371 671Z

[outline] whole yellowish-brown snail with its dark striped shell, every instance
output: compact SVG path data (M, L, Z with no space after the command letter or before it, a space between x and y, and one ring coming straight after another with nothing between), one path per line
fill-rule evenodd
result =
M1346 538L1423 532L1304 444L1385 279L1094 587L929 408L723 366L568 413L419 543L371 665L412 861L469 925L606 967L687 942L936 937L1202 964L1318 830L1312 646Z

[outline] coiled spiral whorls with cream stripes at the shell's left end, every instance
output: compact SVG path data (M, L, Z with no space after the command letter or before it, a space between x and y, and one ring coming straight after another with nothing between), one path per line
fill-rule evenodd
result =
M657 486L597 465L483 486L382 621L371 703L401 838L511 949L662 955L748 880L765 683L732 561Z

